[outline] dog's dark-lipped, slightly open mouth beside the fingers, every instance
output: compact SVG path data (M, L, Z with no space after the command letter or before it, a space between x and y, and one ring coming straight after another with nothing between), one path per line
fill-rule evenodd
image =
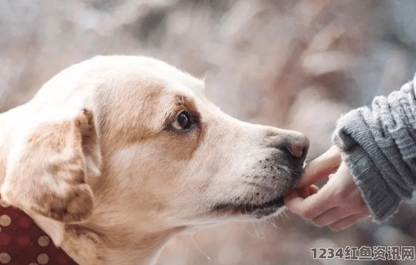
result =
M235 204L235 203L225 203L225 204L216 204L212 211L213 212L230 212L231 214L242 214L242 215L252 215L256 218L262 218L268 215L275 213L279 208L284 206L283 196L272 199L268 202L261 204Z

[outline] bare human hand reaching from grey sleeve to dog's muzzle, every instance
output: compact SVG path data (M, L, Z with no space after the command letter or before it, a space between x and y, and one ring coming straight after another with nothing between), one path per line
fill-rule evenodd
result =
M321 189L311 185L328 175ZM308 163L295 189L285 196L285 204L302 218L333 231L343 230L370 214L336 146Z

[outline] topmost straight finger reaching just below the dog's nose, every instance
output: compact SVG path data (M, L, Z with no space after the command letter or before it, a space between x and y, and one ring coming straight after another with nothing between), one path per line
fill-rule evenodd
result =
M342 162L341 153L337 146L332 146L324 154L309 162L302 178L295 187L306 187L335 172Z

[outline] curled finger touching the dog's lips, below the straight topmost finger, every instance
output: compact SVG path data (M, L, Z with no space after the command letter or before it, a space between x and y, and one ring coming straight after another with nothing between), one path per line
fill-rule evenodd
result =
M332 203L328 200L328 196L322 189L306 199L301 197L285 197L285 204L291 212L309 220L316 218L333 207Z

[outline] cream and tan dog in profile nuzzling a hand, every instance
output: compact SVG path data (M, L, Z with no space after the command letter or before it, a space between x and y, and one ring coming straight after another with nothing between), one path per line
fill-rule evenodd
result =
M1 199L80 265L148 264L191 228L284 208L309 141L251 124L157 59L97 56L0 114Z

